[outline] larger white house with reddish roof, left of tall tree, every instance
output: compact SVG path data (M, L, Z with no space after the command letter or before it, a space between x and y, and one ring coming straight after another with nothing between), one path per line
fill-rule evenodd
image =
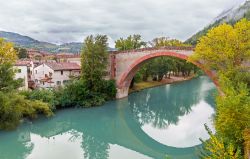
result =
M79 76L81 67L69 62L45 62L34 68L37 87L52 88L65 85L71 77Z

